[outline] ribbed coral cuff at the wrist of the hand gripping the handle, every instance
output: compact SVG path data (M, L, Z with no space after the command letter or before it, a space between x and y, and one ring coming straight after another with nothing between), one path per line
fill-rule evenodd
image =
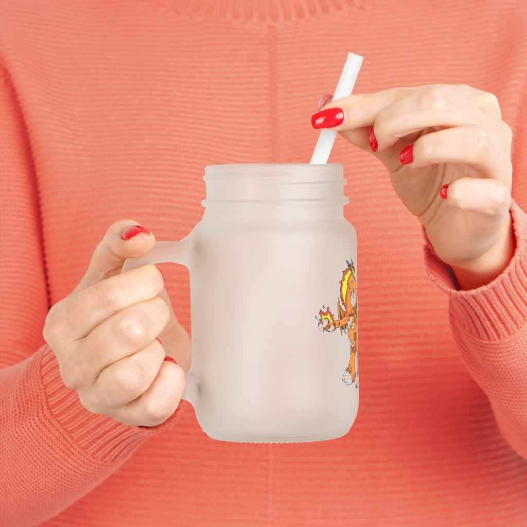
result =
M154 427L126 426L115 419L89 412L77 393L62 382L53 350L41 349L41 372L47 406L52 418L86 452L103 463L119 464L148 437L170 427L180 409L163 424Z

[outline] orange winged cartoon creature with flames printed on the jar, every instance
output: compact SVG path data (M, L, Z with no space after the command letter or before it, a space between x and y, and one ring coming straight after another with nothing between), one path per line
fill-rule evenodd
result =
M337 318L329 307L319 311L318 328L321 331L335 331L347 333L350 345L349 365L344 371L342 380L346 384L353 384L357 375L357 277L353 261L346 260L348 267L342 271L340 280L340 295L337 304Z

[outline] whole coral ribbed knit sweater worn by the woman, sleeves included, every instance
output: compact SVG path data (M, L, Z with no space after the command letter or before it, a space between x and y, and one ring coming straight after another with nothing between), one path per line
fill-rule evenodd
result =
M0 0L0 525L525 527L526 15L523 0ZM44 343L50 305L114 221L187 235L205 165L309 161L349 51L365 57L357 93L497 95L511 265L456 291L382 165L338 137L359 238L352 430L238 444L187 403L154 428L87 412ZM163 272L190 331L187 271Z

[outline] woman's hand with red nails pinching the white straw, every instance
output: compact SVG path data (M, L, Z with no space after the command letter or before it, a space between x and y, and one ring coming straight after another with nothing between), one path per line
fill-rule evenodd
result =
M494 95L464 85L394 88L333 101L312 123L384 163L458 287L487 284L509 264L512 133Z

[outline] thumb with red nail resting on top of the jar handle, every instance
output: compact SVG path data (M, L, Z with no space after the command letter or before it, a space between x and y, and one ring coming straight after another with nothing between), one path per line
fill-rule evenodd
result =
M154 235L133 220L114 223L95 248L86 274L75 291L86 289L119 274L126 258L147 255L154 244Z

